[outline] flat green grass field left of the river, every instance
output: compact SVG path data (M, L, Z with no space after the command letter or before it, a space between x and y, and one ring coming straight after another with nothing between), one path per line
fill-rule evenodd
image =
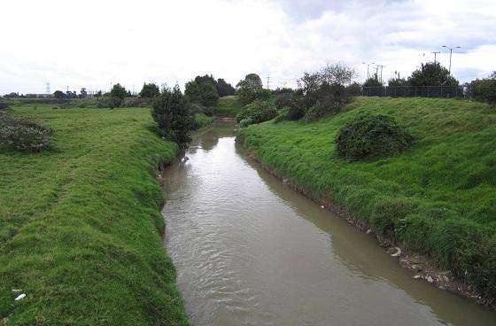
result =
M52 106L13 110L54 129L50 151L0 153L0 321L187 325L155 175L177 146L149 109Z

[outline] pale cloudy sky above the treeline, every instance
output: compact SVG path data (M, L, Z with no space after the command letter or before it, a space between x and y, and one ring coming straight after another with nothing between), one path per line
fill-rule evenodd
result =
M197 74L236 84L260 74L294 86L327 62L407 76L431 51L461 82L496 70L494 0L120 0L0 4L0 94L183 86ZM370 70L373 70L370 66Z

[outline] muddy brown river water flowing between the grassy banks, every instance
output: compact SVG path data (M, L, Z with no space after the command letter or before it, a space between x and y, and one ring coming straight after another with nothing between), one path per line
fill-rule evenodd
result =
M216 124L165 172L166 246L192 325L496 325L268 175L234 128Z

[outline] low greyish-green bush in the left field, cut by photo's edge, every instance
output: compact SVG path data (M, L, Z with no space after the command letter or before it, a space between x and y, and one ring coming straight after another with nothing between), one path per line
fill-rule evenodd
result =
M0 150L42 151L50 143L50 128L32 120L0 113Z

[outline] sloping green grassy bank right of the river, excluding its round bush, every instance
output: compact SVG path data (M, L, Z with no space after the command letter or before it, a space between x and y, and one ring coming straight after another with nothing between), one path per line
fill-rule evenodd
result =
M359 113L393 116L415 136L401 155L337 158L334 138ZM271 121L238 139L268 168L376 232L426 253L496 298L496 110L461 100L358 97L315 123Z

